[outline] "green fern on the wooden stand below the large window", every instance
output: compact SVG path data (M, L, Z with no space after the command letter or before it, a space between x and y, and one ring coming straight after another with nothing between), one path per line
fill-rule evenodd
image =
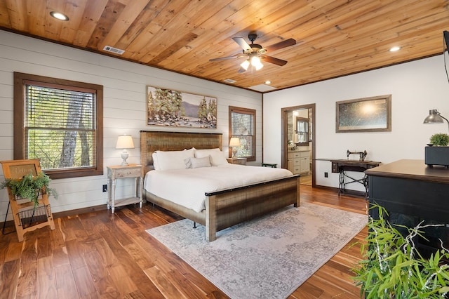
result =
M11 193L22 199L29 199L34 202L34 206L39 205L39 195L42 190L48 195L58 198L58 193L51 187L48 187L50 178L43 172L33 176L32 173L24 175L22 178L9 178L1 183L0 189L11 188Z

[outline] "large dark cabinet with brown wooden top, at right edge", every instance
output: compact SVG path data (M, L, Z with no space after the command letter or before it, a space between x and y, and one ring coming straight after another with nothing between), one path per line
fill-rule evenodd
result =
M438 239L449 245L449 170L444 166L429 168L424 160L403 159L365 171L368 175L368 200L383 206L391 223L415 227L424 224L441 224L427 227L417 246L420 253L429 255L439 247ZM377 218L377 209L370 215Z

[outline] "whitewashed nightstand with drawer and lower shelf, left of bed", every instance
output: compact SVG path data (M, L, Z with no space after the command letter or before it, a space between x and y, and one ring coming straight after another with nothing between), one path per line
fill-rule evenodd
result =
M124 178L134 179L133 197L116 199L116 181ZM139 203L142 208L142 186L143 186L143 166L130 164L129 166L108 166L107 167L107 209L111 208L114 213L116 206L126 206L127 204Z

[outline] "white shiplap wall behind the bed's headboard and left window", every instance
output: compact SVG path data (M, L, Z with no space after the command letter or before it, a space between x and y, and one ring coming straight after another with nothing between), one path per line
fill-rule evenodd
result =
M104 161L105 174L84 178L53 180L58 200L51 197L53 213L89 206L106 206L106 166L121 163L121 150L115 149L118 135L133 135L135 149L128 150L129 163L140 163L140 130L201 131L223 133L223 151L227 157L228 107L256 110L256 161L262 161L262 95L225 84L187 77L162 69L147 67L105 55L69 48L46 41L0 30L0 160L13 159L13 72L83 81L104 87ZM146 126L145 86L159 86L177 91L217 98L217 129L189 129ZM4 180L3 171L0 181ZM126 187L126 182L122 183ZM128 188L118 185L118 196ZM122 187L122 188L121 188ZM123 196L124 196L123 195ZM6 190L0 190L0 222L8 205ZM10 213L11 214L11 211ZM11 215L8 220L11 220Z

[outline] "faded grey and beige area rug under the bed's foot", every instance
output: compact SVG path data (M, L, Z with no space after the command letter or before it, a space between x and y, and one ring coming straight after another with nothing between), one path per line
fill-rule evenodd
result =
M367 215L303 203L222 230L210 243L191 220L147 232L231 298L286 298L367 223Z

